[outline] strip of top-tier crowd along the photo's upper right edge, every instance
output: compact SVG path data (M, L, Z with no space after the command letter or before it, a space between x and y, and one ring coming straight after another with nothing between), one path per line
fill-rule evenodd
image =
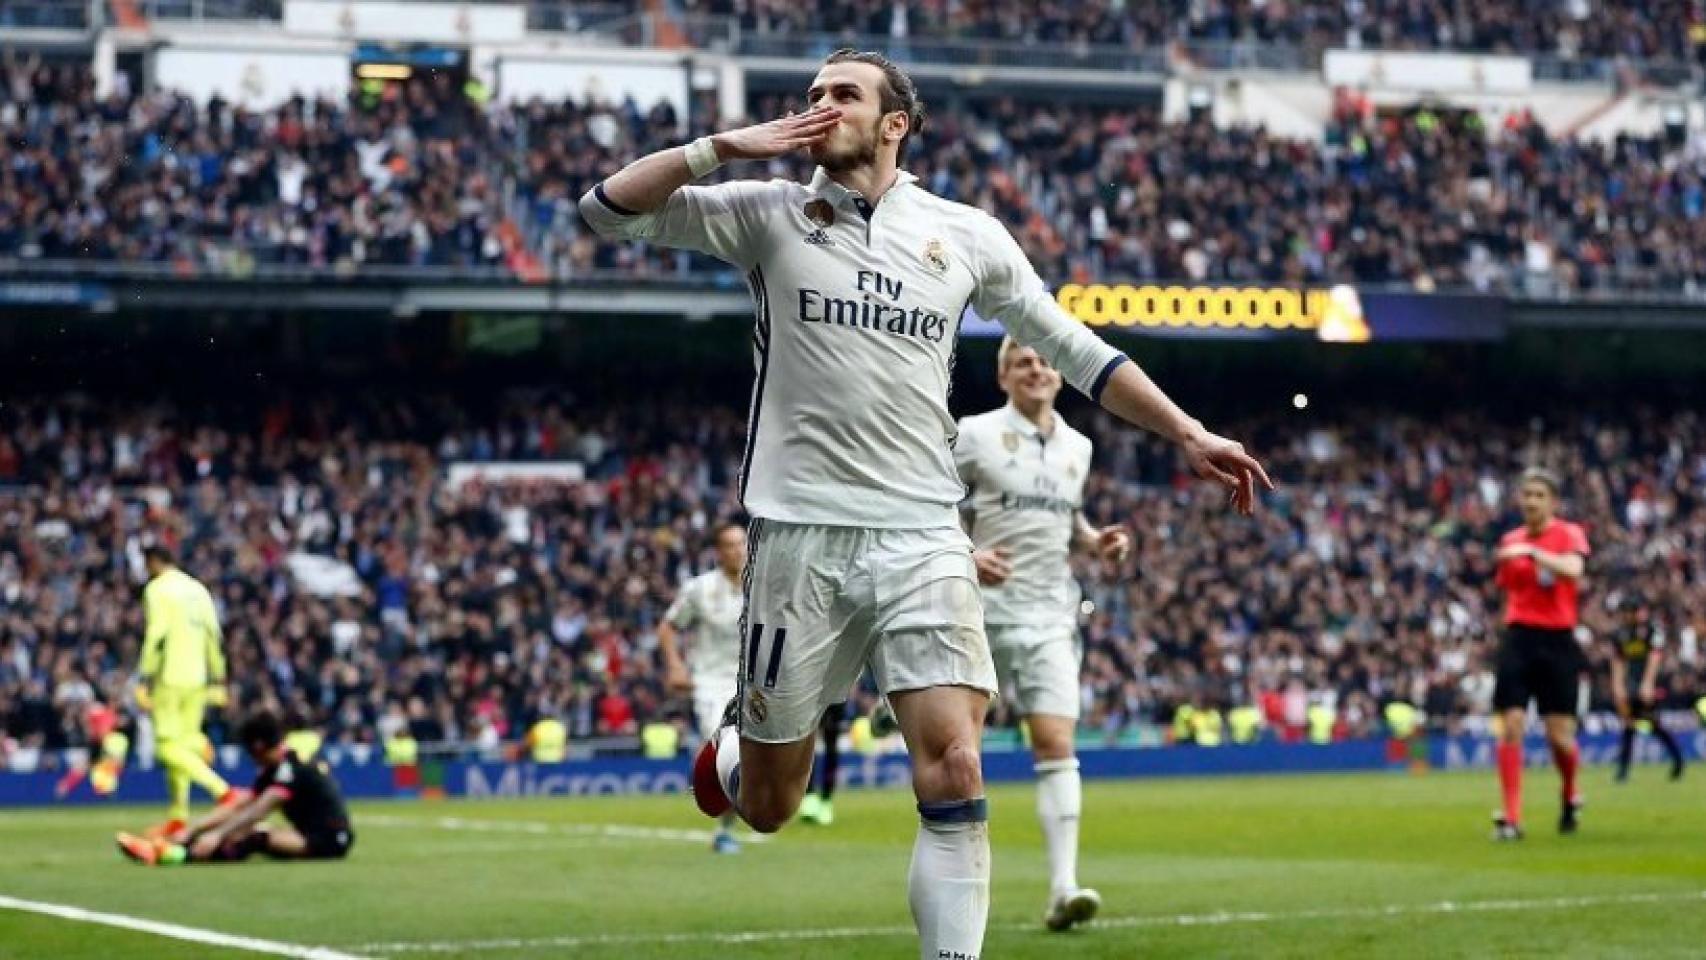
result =
M1459 49L1564 58L1692 60L1706 51L1697 0L688 0L742 31L906 39L1111 44L1242 41L1309 51Z

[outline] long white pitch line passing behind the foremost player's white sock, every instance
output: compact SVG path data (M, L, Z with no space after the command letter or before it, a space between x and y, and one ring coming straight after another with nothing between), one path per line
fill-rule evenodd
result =
M1126 916L1102 917L1094 928L1152 928L1152 926L1230 926L1283 921L1320 919L1385 919L1430 914L1489 914L1520 911L1564 911L1571 907L1609 907L1626 904L1677 904L1706 902L1706 890L1609 893L1599 897L1541 897L1527 900L1440 900L1435 904L1392 904L1385 907L1338 907L1319 911L1220 911L1213 914ZM1001 924L995 929L1029 931L1036 924ZM749 929L734 933L590 933L580 936L496 938L462 941L394 941L363 943L351 950L370 953L485 953L498 950L575 948L575 946L626 946L659 943L766 943L797 940L855 940L862 936L911 936L911 926L846 926L822 929Z

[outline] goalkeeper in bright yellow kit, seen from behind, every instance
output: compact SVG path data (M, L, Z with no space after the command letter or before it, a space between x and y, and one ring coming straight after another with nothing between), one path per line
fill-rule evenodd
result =
M154 755L165 767L167 820L148 830L171 837L189 820L189 784L225 803L241 800L208 766L201 714L225 704L225 653L220 650L213 595L172 563L165 547L143 551L148 587L142 592L147 634L136 668L136 706L154 716Z

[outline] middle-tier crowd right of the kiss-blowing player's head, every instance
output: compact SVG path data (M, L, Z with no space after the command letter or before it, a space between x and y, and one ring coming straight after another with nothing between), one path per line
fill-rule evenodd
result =
M1523 116L1488 130L1477 114L1375 114L1341 97L1309 143L1000 99L931 114L902 164L996 213L1051 283L1706 292L1701 136L1578 143ZM771 172L807 174L800 160Z

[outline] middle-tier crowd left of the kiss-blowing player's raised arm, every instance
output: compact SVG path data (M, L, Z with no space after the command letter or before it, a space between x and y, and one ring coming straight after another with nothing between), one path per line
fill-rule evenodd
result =
M582 189L681 140L667 104L486 106L444 73L256 111L133 92L123 73L97 97L85 67L10 51L3 67L0 261L527 275ZM590 237L553 259L563 271L677 269Z

